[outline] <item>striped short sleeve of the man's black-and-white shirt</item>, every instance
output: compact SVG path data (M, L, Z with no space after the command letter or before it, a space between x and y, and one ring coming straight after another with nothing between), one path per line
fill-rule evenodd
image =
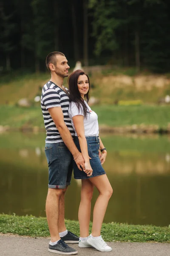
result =
M46 109L61 107L60 95L54 89L49 88L45 91L44 95L42 96L42 102L44 103Z

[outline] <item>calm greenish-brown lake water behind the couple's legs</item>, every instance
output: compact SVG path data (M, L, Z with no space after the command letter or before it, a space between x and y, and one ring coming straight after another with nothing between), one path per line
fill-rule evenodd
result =
M113 187L104 222L170 224L170 137L101 135ZM0 213L45 216L45 133L0 134ZM78 220L81 181L72 178L65 218ZM92 200L94 206L98 192ZM92 217L92 215L91 215ZM92 218L91 218L92 220Z

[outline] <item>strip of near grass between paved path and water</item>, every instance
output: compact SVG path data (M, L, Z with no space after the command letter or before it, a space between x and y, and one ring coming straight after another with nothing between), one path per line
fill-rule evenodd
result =
M79 236L78 221L66 220L65 222L68 230L71 230ZM36 218L34 216L1 214L0 232L31 237L50 236L46 218ZM170 242L170 228L150 225L118 224L112 222L102 225L102 236L106 241Z

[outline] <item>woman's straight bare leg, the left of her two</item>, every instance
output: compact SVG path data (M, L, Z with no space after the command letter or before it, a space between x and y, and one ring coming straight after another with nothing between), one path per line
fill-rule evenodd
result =
M79 205L79 227L80 237L89 235L89 223L91 215L91 198L93 196L94 185L88 179L82 179L81 201Z

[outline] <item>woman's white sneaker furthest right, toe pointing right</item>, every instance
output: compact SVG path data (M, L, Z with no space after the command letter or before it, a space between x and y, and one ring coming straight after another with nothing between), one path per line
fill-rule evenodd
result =
M112 248L106 244L106 242L102 239L102 236L97 239L92 239L91 235L88 237L88 244L92 245L94 248L99 250L100 252L110 252Z

